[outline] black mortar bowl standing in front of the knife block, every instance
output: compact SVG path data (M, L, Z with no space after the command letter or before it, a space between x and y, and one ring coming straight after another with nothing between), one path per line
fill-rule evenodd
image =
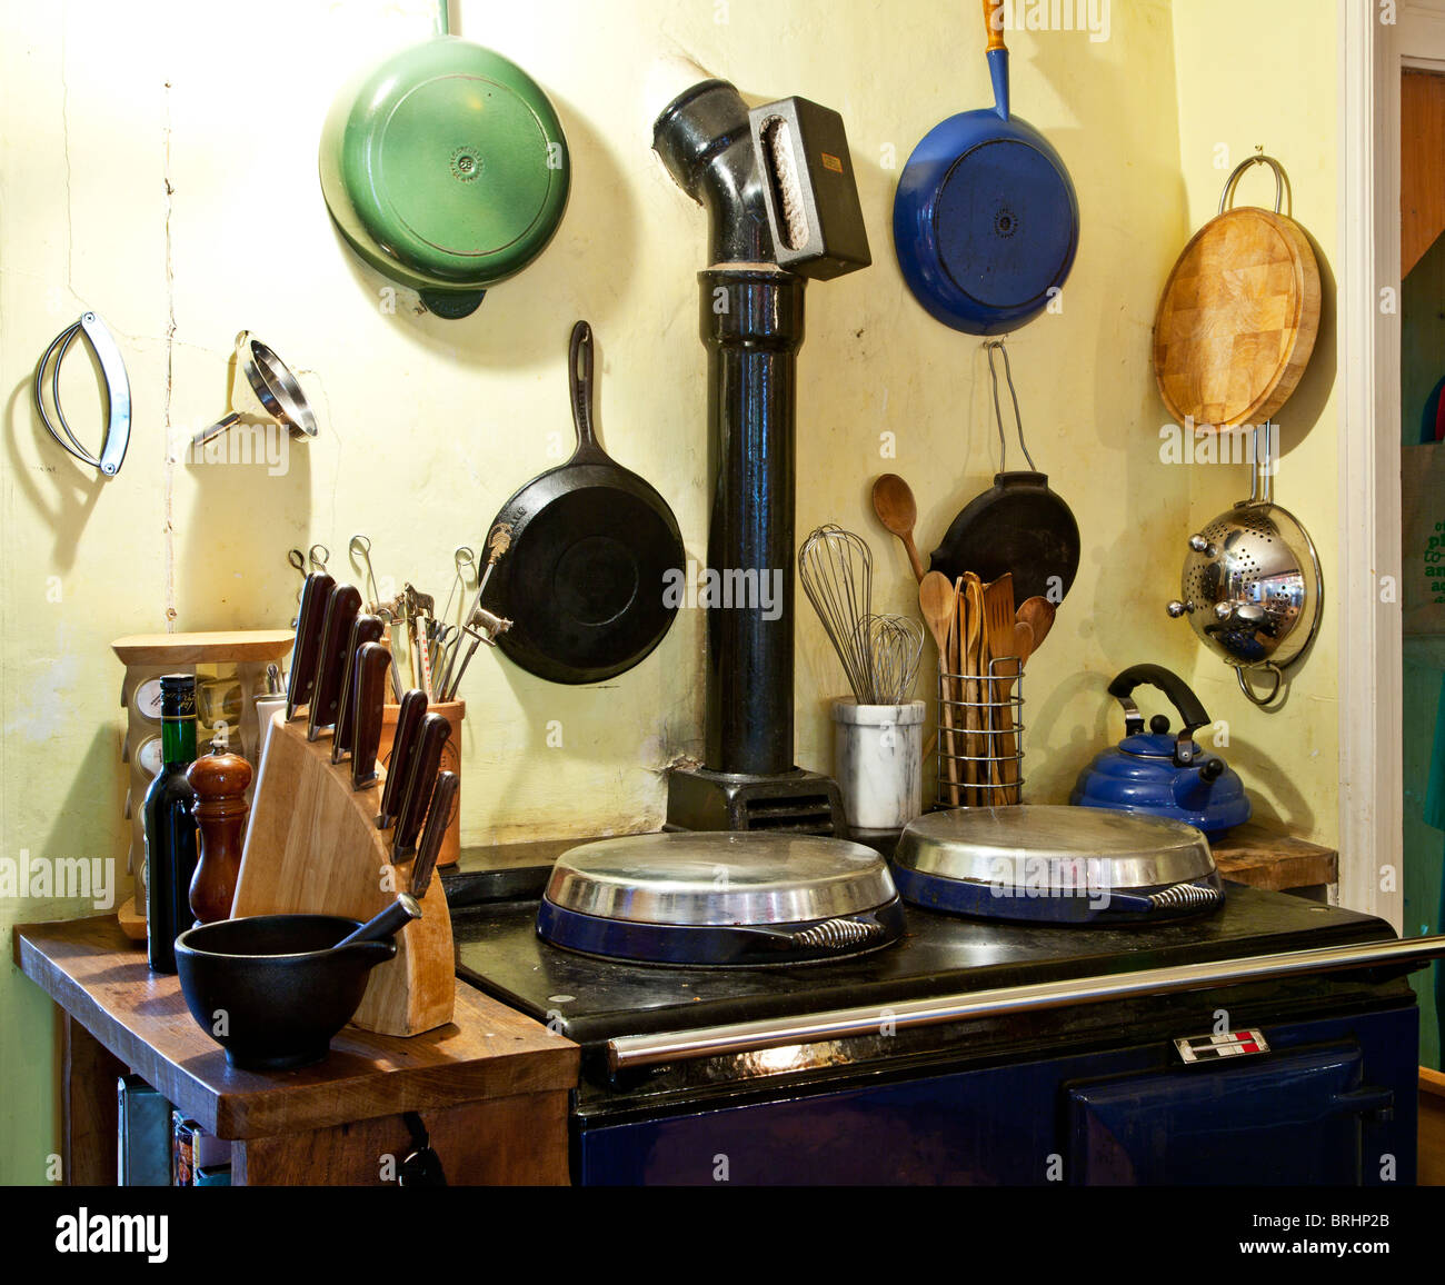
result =
M176 973L201 1029L246 1071L319 1062L361 1003L367 977L396 941L335 948L360 925L340 915L254 915L176 938Z

